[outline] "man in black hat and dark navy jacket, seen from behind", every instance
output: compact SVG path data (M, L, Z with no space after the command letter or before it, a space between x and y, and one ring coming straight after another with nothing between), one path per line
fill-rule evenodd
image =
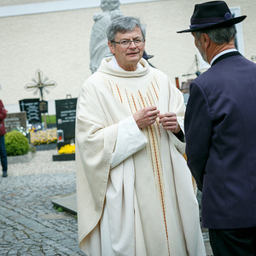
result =
M188 166L202 191L202 225L215 256L256 255L256 65L236 50L224 1L195 5L195 46L211 64L190 84Z

